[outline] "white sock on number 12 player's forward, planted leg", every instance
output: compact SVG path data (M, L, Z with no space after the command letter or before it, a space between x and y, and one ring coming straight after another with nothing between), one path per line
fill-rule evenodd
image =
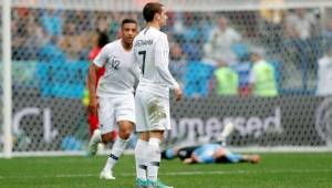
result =
M121 137L118 137L116 139L116 142L114 143L112 150L111 150L111 155L106 161L106 165L104 167L105 170L111 170L113 169L114 165L117 163L118 158L121 157L121 155L124 153L124 150L126 149L128 144L128 139L124 140Z

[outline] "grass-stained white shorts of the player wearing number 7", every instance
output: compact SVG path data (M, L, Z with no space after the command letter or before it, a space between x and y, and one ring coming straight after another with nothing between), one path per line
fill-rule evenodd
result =
M136 132L170 129L169 100L138 91L135 96Z

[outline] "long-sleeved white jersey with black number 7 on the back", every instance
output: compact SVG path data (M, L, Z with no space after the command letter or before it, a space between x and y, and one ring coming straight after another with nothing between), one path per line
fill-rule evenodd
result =
M146 28L134 40L134 61L142 70L137 90L167 94L178 87L168 70L167 35L155 28Z

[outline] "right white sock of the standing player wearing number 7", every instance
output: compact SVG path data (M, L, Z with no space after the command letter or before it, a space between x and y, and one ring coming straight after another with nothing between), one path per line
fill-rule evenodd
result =
M158 138L149 138L147 153L147 179L156 181L158 179L158 170L160 165L162 153L159 148L160 140Z

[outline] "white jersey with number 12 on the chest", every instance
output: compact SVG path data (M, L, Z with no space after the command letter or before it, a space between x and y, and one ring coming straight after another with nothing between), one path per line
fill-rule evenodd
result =
M133 95L137 77L137 67L133 63L133 52L126 51L121 40L106 44L93 63L98 67L105 65L105 74L100 79L96 94L100 97L114 95Z

